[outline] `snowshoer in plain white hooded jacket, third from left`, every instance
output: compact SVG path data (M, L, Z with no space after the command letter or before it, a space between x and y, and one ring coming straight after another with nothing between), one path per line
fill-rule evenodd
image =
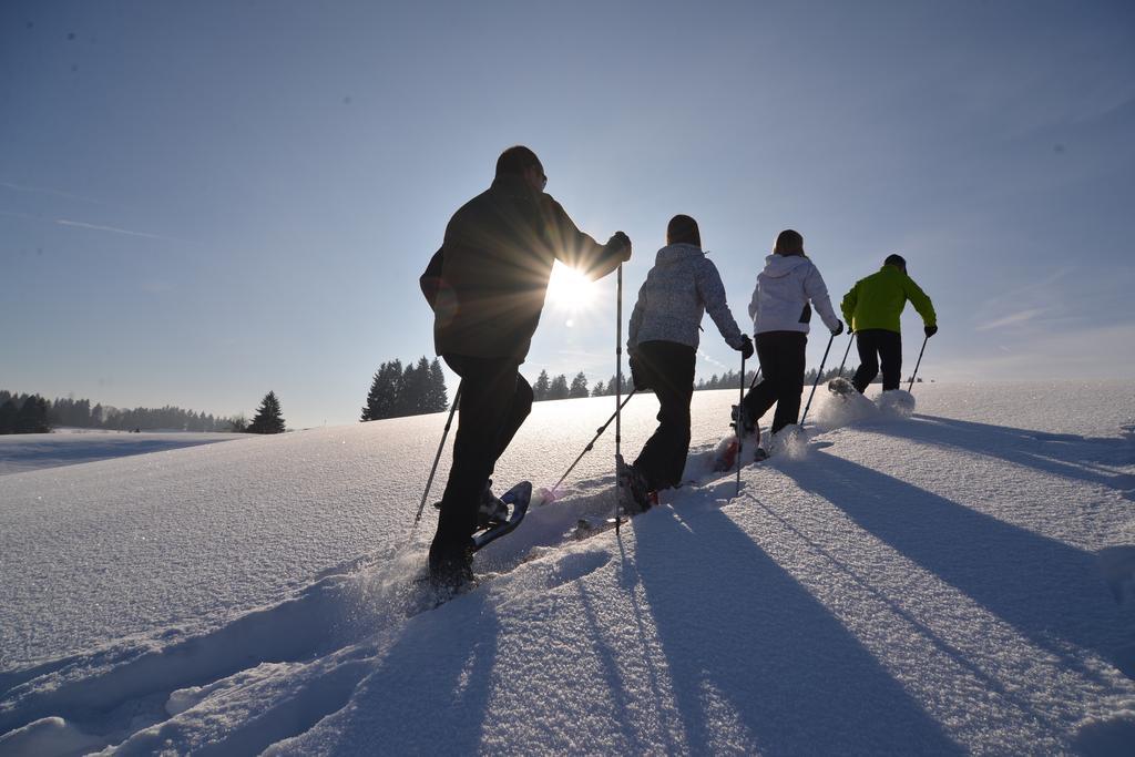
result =
M812 304L833 336L843 333L843 322L832 309L824 278L804 253L804 237L799 232L785 229L776 236L773 254L765 258L765 269L757 276L749 303L764 378L742 402L746 429L753 429L773 403L776 404L773 434L797 422Z

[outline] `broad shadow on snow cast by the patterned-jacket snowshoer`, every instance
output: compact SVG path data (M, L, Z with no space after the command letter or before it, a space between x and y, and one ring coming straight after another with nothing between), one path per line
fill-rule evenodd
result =
M634 521L690 749L720 749L706 689L768 754L960 754L878 661L721 510ZM737 745L734 745L734 748Z

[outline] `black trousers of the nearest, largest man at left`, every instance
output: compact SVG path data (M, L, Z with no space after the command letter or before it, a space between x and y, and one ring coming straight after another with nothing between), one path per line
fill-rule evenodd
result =
M461 376L461 404L431 557L449 557L469 546L485 482L532 411L532 387L518 372L518 361L454 354L443 359Z

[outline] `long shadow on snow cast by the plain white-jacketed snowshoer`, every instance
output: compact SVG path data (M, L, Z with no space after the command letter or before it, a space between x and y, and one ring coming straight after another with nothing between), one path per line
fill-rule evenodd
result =
M1095 555L822 451L781 471L1069 667L1094 678L1065 644L1135 676Z

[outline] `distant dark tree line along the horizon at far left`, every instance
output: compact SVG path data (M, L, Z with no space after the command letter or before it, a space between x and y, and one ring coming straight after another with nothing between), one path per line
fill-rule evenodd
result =
M227 431L230 419L166 405L133 410L91 405L90 399L56 398L0 389L0 434L45 434L52 428L133 431Z

